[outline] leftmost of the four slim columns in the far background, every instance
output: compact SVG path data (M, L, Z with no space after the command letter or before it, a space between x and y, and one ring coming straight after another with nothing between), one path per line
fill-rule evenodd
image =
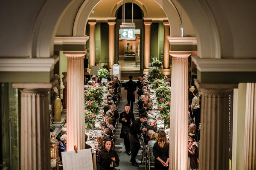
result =
M95 25L96 22L88 22L90 25L90 66L95 65Z

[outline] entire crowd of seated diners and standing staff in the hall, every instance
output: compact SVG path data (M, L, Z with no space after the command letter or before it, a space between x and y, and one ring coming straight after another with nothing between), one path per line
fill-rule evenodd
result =
M167 142L166 132L157 128L157 117L154 115L153 103L150 94L149 82L147 75L143 74L138 77L138 81L134 82L132 76L129 76L129 81L125 83L127 90L128 103L123 108L124 111L119 113L117 107L119 104L121 82L117 77L111 76L108 79L108 91L105 97L105 105L103 108L103 121L100 122L101 130L96 134L95 141L97 155L97 170L113 170L115 165L119 164L119 156L114 149L113 136L118 124L121 124L120 138L123 139L125 145L125 153L131 156L130 162L133 166L138 167L136 156L140 150L139 138L149 147L150 159L154 160L155 170L167 170L169 167L169 142ZM164 77L166 85L170 87L171 82L169 77ZM97 77L92 77L84 86L84 93L87 89L98 83ZM135 119L133 112L133 104L135 102L135 94L138 94L138 112L139 118ZM121 110L121 108L119 108ZM193 93L189 91L189 134L188 134L188 152L191 169L198 168L198 141L200 138L200 97L198 91ZM56 139L60 141L59 155L66 151L67 129L63 127ZM87 141L88 136L85 136ZM91 148L86 144L86 148Z

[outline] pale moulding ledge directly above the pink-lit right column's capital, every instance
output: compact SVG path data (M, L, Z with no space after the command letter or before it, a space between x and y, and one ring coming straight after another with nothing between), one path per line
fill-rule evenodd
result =
M196 37L171 37L167 36L171 45L197 45Z

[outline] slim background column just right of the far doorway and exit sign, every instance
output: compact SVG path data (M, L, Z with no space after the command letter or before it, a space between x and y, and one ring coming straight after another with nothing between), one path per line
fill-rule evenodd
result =
M150 61L150 26L151 22L145 22L145 42L144 42L144 70L143 73L148 74L148 62Z

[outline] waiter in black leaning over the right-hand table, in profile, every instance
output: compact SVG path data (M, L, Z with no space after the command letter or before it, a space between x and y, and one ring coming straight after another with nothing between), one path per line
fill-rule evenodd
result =
M146 114L140 114L140 118L137 118L131 125L129 131L130 149L131 149L131 160L133 166L138 167L139 164L136 162L136 156L140 150L139 135L143 131L147 131L147 128L141 126L141 123L147 121Z

